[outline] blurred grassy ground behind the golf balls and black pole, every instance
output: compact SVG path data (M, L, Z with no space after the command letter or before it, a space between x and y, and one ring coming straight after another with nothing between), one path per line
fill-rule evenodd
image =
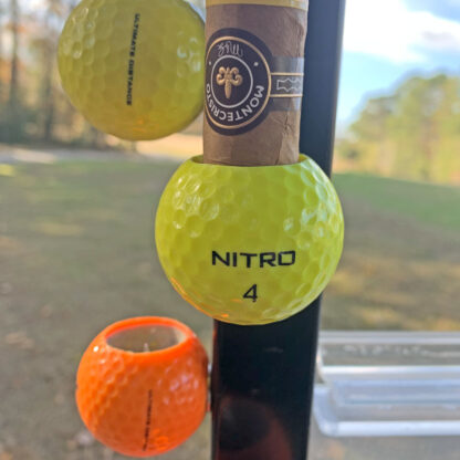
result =
M211 321L176 294L154 249L155 207L175 168L81 161L13 166L11 176L0 169L0 394L8 395L0 443L10 436L12 458L119 458L74 442L75 368L111 322L174 316L210 347ZM323 327L460 328L459 189L351 174L334 180L346 241ZM166 458L208 458L208 442L205 426Z

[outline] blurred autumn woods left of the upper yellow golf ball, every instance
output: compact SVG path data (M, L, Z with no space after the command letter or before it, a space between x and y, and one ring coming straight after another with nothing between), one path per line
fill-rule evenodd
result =
M0 142L103 147L64 96L59 35L76 0L0 0Z

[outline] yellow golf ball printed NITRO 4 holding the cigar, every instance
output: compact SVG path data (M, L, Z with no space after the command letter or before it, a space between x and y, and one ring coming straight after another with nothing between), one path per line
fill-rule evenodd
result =
M156 216L174 288L206 314L242 325L282 321L313 302L342 254L335 189L310 158L232 167L186 161Z

